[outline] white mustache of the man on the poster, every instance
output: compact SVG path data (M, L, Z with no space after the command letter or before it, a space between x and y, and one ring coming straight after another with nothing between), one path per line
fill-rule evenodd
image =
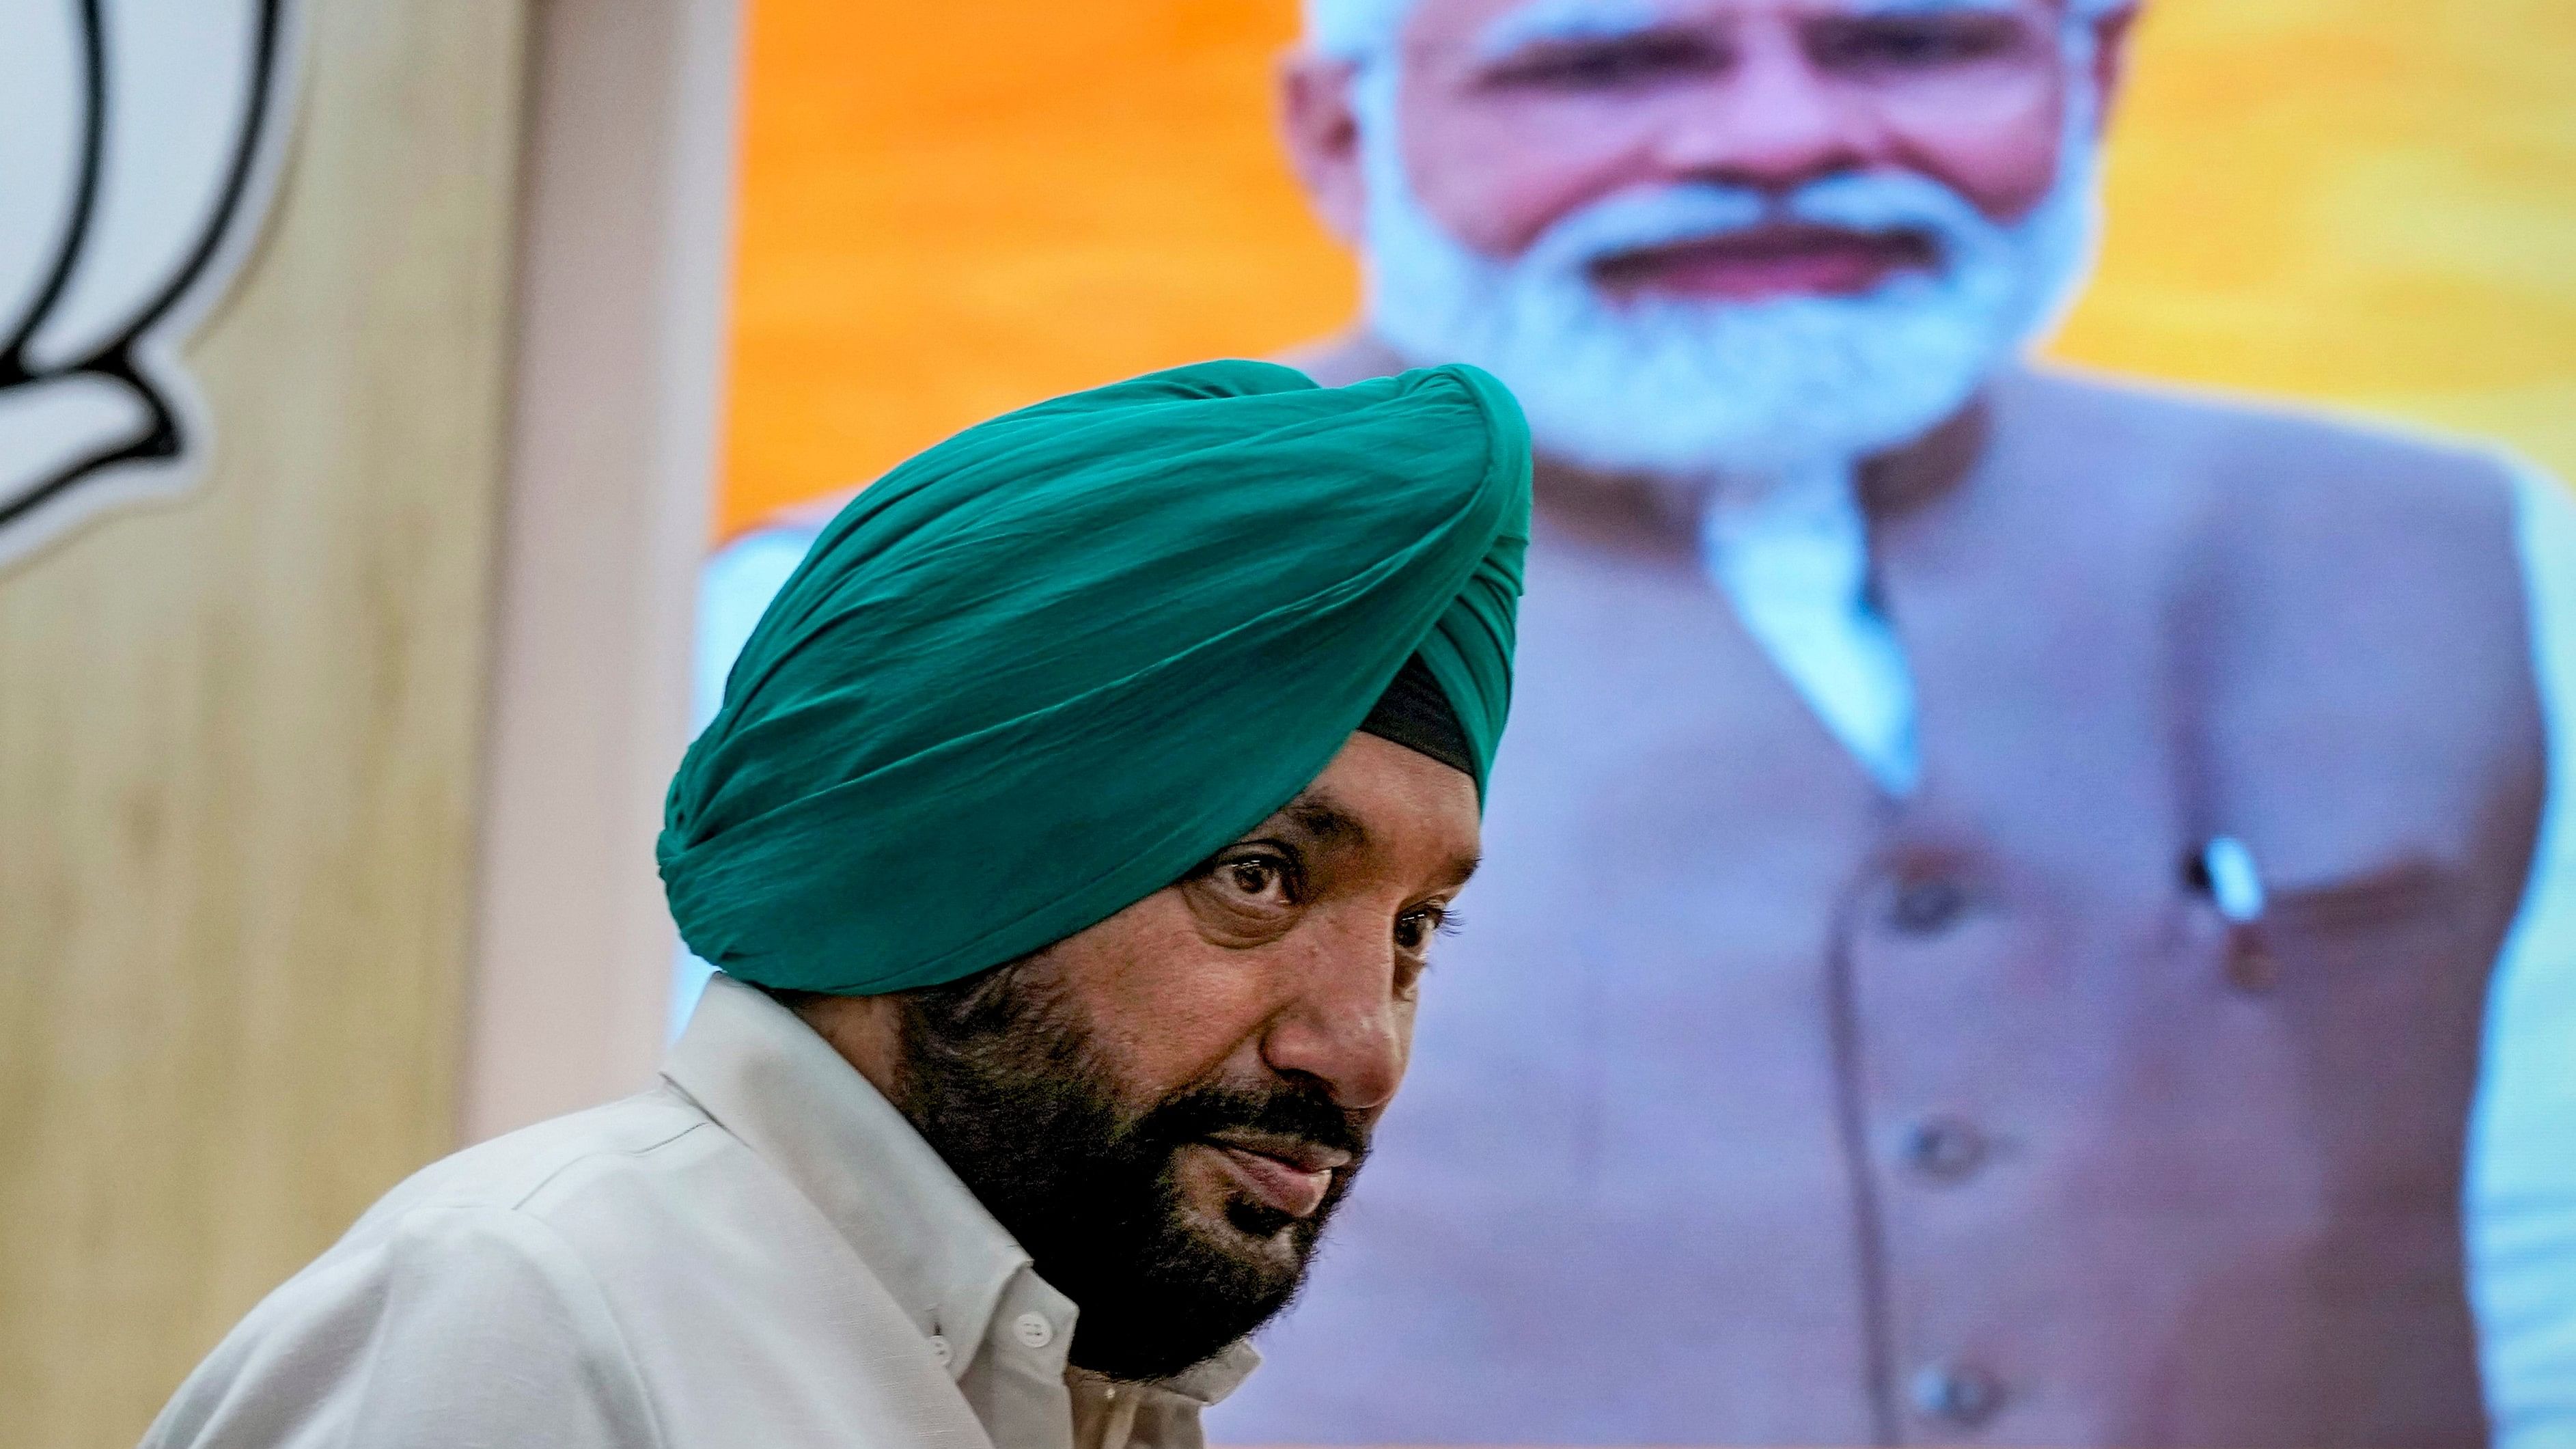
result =
M1623 255L1716 242L1783 222L1922 235L1942 263L1965 248L1994 245L2004 235L2004 227L1965 196L1914 173L1826 175L1788 193L1682 180L1613 191L1556 219L1528 245L1520 266L1579 281Z

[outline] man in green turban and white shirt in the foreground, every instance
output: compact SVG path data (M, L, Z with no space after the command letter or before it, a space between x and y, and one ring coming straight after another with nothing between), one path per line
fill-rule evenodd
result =
M1466 366L886 474L672 781L662 1080L394 1189L147 1444L1195 1449L1404 1075L1528 508Z

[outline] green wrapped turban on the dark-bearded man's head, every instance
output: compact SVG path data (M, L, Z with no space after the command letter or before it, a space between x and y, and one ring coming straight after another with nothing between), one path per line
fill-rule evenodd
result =
M840 995L1025 957L1288 804L1414 655L1481 792L1528 531L1528 428L1471 366L1221 361L969 428L752 629L670 784L680 936Z

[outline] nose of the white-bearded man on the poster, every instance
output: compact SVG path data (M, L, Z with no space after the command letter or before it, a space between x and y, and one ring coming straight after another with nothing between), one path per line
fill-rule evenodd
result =
M1765 21L1744 28L1710 88L1674 111L1656 162L1672 175L1780 193L1865 168L1873 137L1868 108L1816 67L1795 26Z

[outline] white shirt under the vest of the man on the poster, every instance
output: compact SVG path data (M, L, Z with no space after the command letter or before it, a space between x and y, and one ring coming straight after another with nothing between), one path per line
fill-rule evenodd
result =
M2514 482L2550 789L2522 913L2488 987L2465 1183L2468 1266L2496 1444L2555 1449L2576 1446L2576 500L2530 469L2517 469ZM706 565L701 727L819 526L760 529ZM1922 771L1914 681L1873 601L1850 472L1816 469L1762 492L1718 495L1700 541L1710 580L1819 722L1880 789L1909 794ZM2259 910L2251 861L2218 853L2210 864L2231 897ZM706 964L683 951L675 998L688 1000L701 980Z

